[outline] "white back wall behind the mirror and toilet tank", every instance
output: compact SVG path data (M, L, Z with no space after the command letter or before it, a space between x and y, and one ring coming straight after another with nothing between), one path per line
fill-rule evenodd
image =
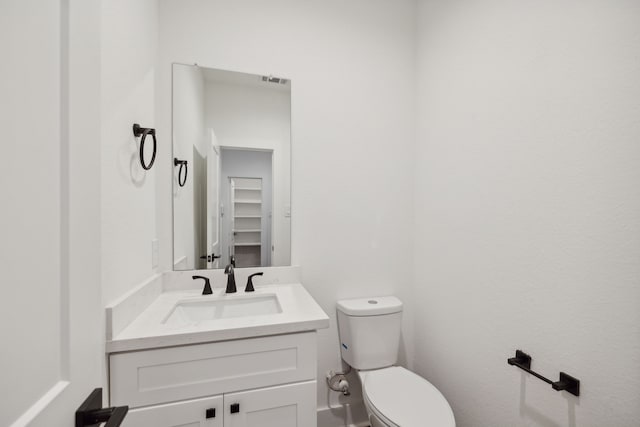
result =
M397 294L410 303L413 6L160 1L163 134L171 123L171 62L292 79L292 262L303 266L306 288L331 316L331 328L319 334L321 409L338 400L322 380L327 369L340 367L335 301ZM158 173L170 176L166 160L159 161ZM164 269L171 268L170 203L170 180L163 179ZM408 309L407 328L410 316ZM354 393L346 400L358 399Z

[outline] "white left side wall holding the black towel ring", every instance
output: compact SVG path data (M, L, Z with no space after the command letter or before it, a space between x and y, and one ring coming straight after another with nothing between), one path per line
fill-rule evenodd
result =
M158 162L144 171L132 126L155 126L158 4L102 2L102 286L109 303L151 274ZM170 70L168 70L170 72ZM159 132L159 152L170 134ZM167 160L165 160L167 161ZM165 169L165 173L166 172ZM170 193L167 193L170 200ZM170 247L169 247L170 248Z

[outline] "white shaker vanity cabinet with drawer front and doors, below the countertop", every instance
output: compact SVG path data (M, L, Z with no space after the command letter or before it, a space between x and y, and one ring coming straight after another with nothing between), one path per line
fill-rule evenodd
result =
M314 427L316 333L109 355L127 427Z

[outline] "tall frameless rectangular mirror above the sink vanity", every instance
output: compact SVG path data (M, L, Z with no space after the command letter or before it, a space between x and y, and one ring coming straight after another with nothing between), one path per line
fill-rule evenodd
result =
M289 265L291 82L173 65L174 270Z

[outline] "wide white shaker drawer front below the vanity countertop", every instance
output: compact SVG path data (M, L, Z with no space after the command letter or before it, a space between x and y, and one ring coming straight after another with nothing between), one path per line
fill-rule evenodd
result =
M316 377L315 332L109 357L111 405L130 408Z

